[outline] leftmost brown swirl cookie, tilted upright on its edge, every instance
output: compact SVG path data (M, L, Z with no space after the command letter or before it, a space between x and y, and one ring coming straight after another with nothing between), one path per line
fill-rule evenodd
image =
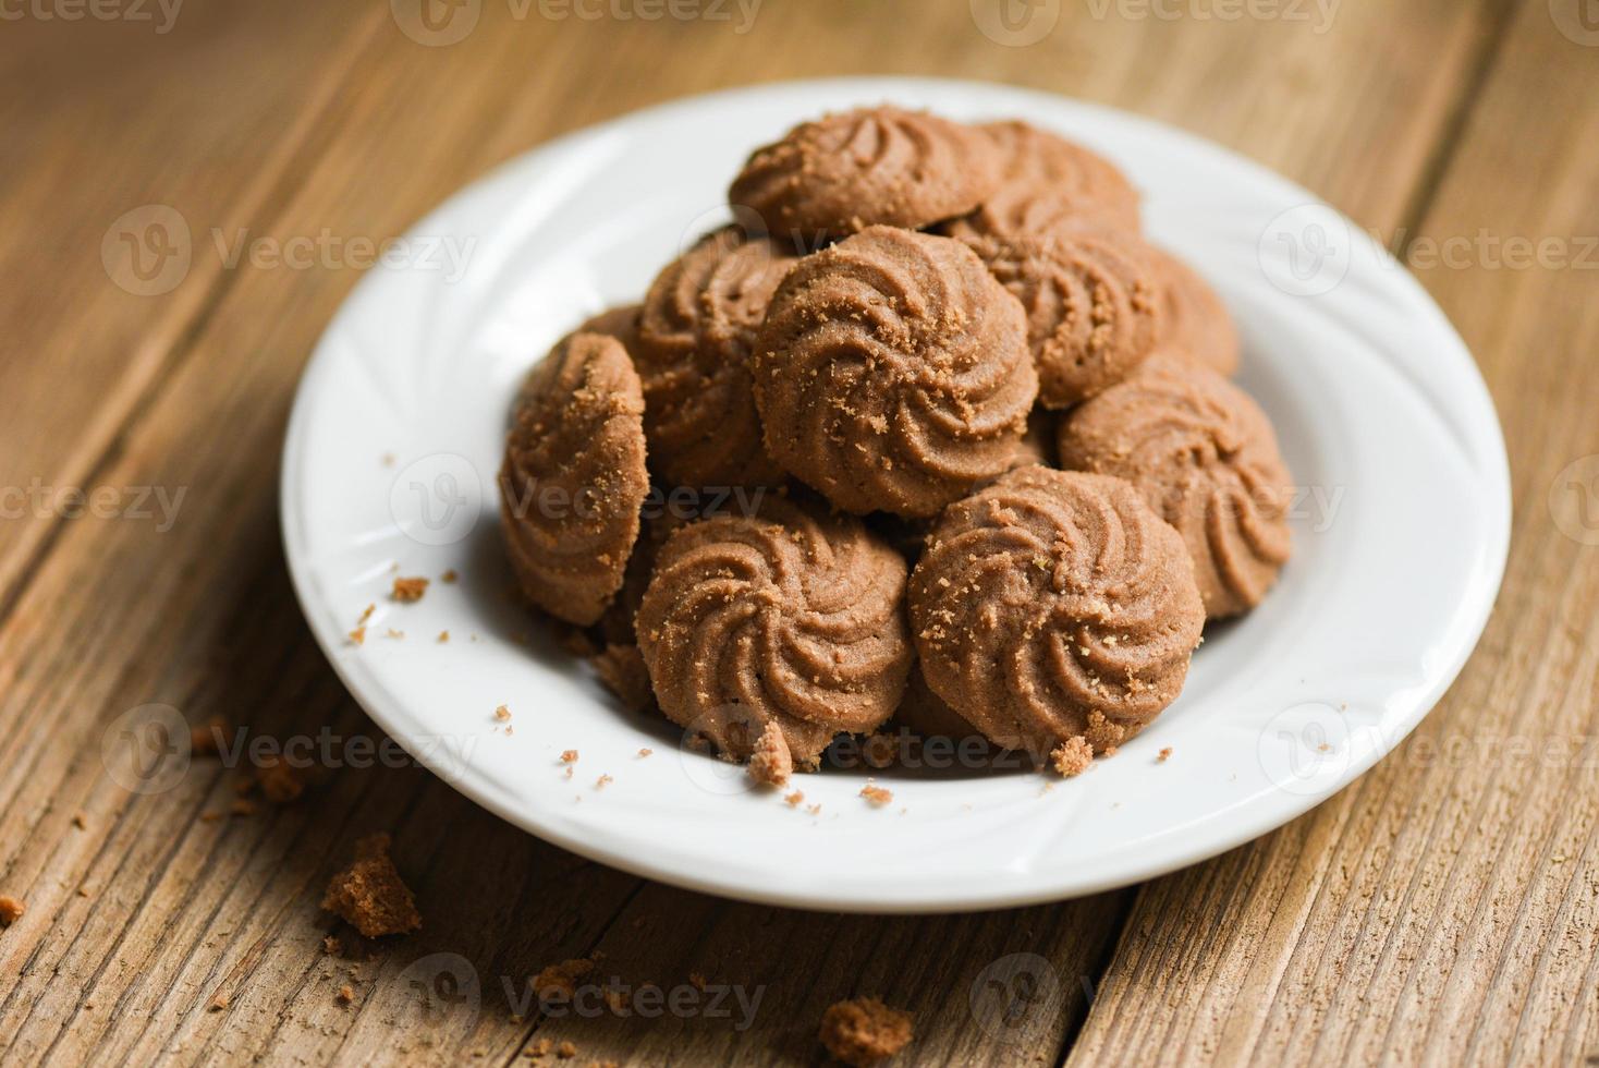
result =
M622 585L649 492L644 397L614 337L574 334L528 376L499 472L500 526L528 598L571 624Z

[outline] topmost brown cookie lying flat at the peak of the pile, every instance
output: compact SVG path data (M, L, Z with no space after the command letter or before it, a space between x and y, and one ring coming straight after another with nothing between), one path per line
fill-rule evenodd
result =
M728 190L771 233L817 241L868 225L918 229L972 211L999 184L982 131L926 112L863 107L756 149Z

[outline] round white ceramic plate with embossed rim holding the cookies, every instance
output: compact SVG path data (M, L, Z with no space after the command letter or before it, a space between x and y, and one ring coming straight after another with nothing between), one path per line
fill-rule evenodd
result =
M622 711L564 652L524 643L494 472L526 369L724 221L723 190L753 145L881 101L1022 117L1119 163L1145 193L1150 235L1231 305L1239 382L1305 489L1276 592L1210 628L1178 702L1116 758L1047 790L1022 771L878 772L894 791L886 807L857 796L863 771L833 769L798 780L822 806L811 814L684 751L665 721ZM1498 590L1505 446L1444 315L1311 193L1142 118L961 82L739 90L561 137L451 198L413 238L361 281L301 384L283 462L296 590L350 692L414 756L500 817L619 868L859 911L1022 905L1146 879L1249 841L1370 767L1455 678ZM387 600L395 568L435 577L421 603ZM437 582L446 569L461 582ZM357 648L345 633L369 603ZM405 638L384 636L390 627ZM502 703L513 732L494 721ZM558 763L568 748L580 753L572 779ZM601 774L612 780L596 788Z

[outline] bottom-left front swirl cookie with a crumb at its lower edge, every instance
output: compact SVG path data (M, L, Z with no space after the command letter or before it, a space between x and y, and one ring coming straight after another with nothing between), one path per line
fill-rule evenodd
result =
M662 547L638 644L667 716L747 759L769 723L793 764L892 715L911 667L905 561L854 516L768 494Z

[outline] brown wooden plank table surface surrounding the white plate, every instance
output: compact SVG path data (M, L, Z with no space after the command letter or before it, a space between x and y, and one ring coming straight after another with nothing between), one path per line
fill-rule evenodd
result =
M427 24L416 0L6 5L0 894L27 911L0 931L3 1058L513 1063L555 1039L577 1046L563 1063L814 1063L822 1010L870 993L916 1017L899 1063L1599 1062L1593 5L1585 22L1586 0L1038 0L999 22L988 0L752 2L648 19L620 16L651 0L580 5L598 18L461 0ZM275 737L376 732L299 617L277 520L296 379L360 270L230 265L214 230L381 240L566 130L871 72L1180 125L1410 259L1487 377L1516 505L1487 633L1404 745L1186 871L902 919L620 875L417 769L341 769L221 820L203 817L238 774L214 761L150 795L107 775L109 724L146 703ZM117 267L149 205L193 235L174 286ZM69 488L101 505L59 515ZM146 488L184 494L171 521L138 507ZM425 926L325 953L321 891L373 830ZM753 1025L516 1014L505 983L592 953L628 983L760 991ZM1007 1012L974 1012L1011 954L1047 964Z

